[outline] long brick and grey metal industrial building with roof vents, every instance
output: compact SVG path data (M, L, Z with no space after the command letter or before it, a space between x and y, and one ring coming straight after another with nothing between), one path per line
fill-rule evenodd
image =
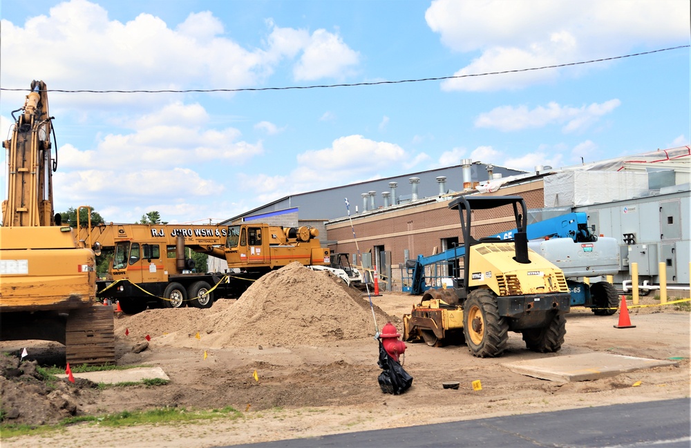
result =
M659 284L663 263L668 289L688 290L690 168L688 146L558 170L538 166L532 173L464 159L439 170L287 196L225 224L261 220L314 226L332 253L349 253L366 268L378 266L381 286L400 291L406 260L462 242L457 211L447 206L453 197L520 195L529 208L529 224L583 211L596 234L616 238L618 288L630 280L629 266L636 262L644 285ZM475 235L512 228L509 215L480 213L473 218Z

